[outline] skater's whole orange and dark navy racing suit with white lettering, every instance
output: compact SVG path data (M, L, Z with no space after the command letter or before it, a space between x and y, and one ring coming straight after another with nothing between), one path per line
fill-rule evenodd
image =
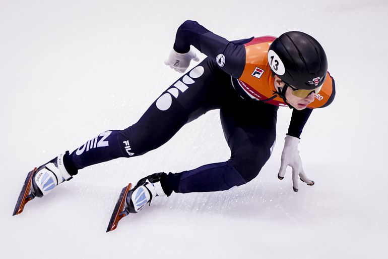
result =
M286 106L274 94L274 77L267 61L274 39L264 36L229 41L197 22L184 22L176 34L175 51L187 53L193 45L208 57L170 85L137 123L88 140L65 156L65 166L75 174L78 169L111 159L140 156L166 143L183 125L218 109L230 158L163 174L162 187L170 195L173 191L226 190L252 180L270 158L277 110ZM304 110L293 110L287 134L299 137L311 111L330 105L334 96L334 80L328 74L315 100Z

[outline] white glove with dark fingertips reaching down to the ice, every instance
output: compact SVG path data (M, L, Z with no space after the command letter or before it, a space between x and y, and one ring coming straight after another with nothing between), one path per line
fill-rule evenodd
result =
M298 191L298 176L302 182L307 185L314 185L314 181L307 178L303 171L302 160L299 156L299 138L286 135L284 148L282 152L282 161L279 169L278 178L282 180L286 173L287 166L292 168L292 182L294 191Z

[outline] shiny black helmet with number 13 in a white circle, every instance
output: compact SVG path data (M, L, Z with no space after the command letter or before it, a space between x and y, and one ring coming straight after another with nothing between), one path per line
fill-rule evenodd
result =
M310 35L289 31L276 38L268 51L271 70L298 89L322 85L328 72L325 50Z

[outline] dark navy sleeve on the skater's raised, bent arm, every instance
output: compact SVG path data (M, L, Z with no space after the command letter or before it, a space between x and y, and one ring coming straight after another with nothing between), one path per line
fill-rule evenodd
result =
M190 45L193 45L214 61L218 55L222 54L225 62L222 65L218 63L220 68L229 75L239 78L245 67L243 44L250 40L252 38L229 41L209 31L198 22L185 21L176 32L174 50L178 53L187 53Z

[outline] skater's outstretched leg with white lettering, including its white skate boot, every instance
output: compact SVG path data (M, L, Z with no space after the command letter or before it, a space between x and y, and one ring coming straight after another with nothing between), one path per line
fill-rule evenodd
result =
M145 112L140 120L124 130L109 130L88 140L39 167L34 175L36 195L48 193L55 185L69 180L79 169L120 157L144 154L167 142L184 124L225 101L218 94L225 74L214 62L200 65L171 85ZM221 78L221 79L220 79Z

